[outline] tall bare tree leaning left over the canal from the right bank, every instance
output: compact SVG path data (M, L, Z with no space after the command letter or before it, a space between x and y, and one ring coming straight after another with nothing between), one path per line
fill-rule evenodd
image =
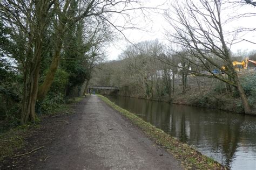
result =
M198 3L186 0L184 3L175 1L171 6L174 13L165 13L167 21L174 30L174 33L171 31L167 33L170 37L169 41L187 50L190 58L186 58L186 60L191 65L196 65L207 71L207 74L204 74L192 69L191 73L198 76L214 77L235 87L241 97L245 113L253 114L232 65L230 46L233 41L226 36L227 32L224 31L224 25L229 20L222 19L224 17L223 3L217 0L200 0ZM223 65L215 62L214 58L216 57L226 66L225 70L221 68ZM212 68L223 70L228 79L221 74L215 74Z

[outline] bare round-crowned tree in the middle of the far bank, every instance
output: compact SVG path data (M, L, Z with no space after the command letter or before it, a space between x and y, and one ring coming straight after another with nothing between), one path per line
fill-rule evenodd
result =
M153 79L159 70L154 57L160 54L161 47L158 40L143 41L121 54L127 62L126 73L132 75L132 81L139 82L143 97L147 99L153 97Z

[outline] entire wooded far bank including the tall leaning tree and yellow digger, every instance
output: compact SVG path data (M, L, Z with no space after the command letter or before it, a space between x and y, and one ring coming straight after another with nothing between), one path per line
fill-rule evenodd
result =
M98 66L91 84L117 86L118 95L255 115L255 49L231 51L234 44L246 41L241 34L255 28L229 25L255 14L226 15L231 9L239 11L240 6L226 1L171 2L164 13L170 26L167 43L151 40L127 47L119 60Z

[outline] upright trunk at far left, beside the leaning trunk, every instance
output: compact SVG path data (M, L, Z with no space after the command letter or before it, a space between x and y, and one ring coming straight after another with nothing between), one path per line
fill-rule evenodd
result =
M46 17L49 7L52 5L47 1L35 1L36 22L30 26L30 36L26 51L26 63L24 66L24 91L22 97L21 124L25 124L30 119L36 121L36 102L38 93L39 69L42 57L44 31L46 28Z

